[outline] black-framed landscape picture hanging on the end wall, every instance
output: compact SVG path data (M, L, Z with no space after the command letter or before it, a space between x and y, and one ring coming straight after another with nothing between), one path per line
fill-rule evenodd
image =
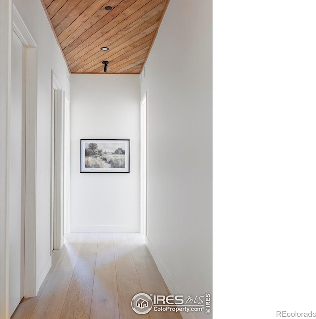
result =
M81 173L129 173L129 139L81 139Z

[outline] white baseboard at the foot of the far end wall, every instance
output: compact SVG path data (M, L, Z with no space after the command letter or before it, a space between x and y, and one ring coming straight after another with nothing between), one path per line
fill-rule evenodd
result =
M70 232L140 232L139 225L70 225Z

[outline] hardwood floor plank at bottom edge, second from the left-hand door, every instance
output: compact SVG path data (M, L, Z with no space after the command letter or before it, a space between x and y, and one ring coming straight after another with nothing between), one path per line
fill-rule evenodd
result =
M59 319L73 272L53 272L30 319Z

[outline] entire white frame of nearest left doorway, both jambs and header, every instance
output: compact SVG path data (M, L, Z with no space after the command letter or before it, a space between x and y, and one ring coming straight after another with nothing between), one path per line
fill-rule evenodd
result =
M12 30L26 47L26 182L25 195L25 283L24 296L36 294L36 111L37 111L37 44L26 28L11 0L0 2L0 318L9 316L9 179L10 107L11 107L11 46Z

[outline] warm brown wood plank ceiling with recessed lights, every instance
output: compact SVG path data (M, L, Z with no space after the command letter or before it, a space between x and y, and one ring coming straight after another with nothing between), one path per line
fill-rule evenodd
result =
M104 73L108 61L107 73L124 74L141 72L169 2L41 1L71 73Z

